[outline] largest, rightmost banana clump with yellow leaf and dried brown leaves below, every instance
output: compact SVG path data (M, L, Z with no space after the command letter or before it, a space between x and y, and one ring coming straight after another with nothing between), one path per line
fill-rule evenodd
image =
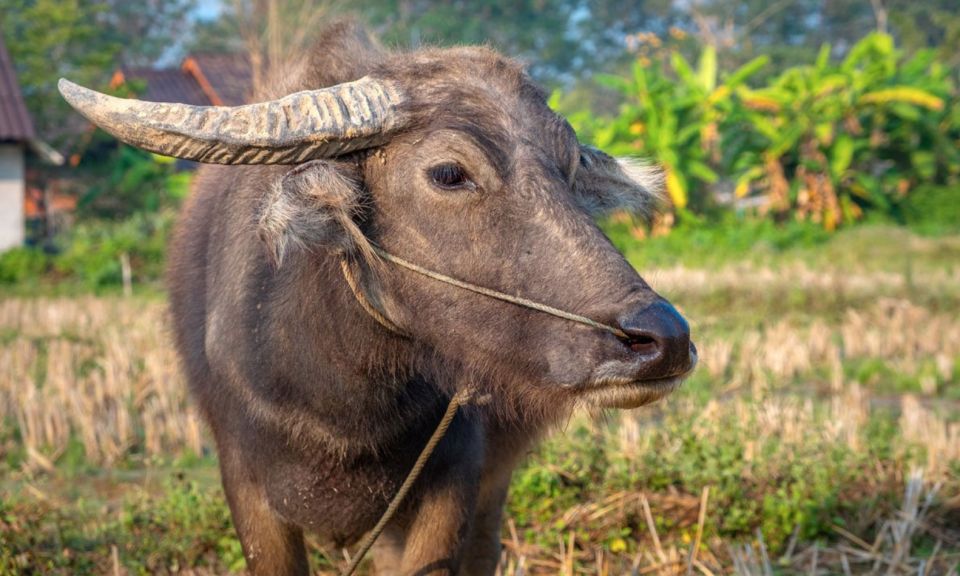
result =
M960 159L955 145L934 147L950 138L939 125L952 87L930 55L901 63L884 34L867 36L837 65L830 50L766 88L738 89L756 137L734 171L737 195L759 190L770 209L834 229L866 208L890 211Z

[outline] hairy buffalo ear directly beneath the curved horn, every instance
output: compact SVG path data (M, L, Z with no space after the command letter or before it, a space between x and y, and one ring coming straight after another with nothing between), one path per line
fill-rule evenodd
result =
M363 195L358 169L347 162L312 160L284 174L260 212L260 238L274 263L282 264L294 249L340 255L369 250L356 223Z

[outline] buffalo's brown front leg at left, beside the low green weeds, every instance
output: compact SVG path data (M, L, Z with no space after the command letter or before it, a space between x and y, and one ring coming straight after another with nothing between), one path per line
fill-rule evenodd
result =
M250 474L250 466L220 446L223 488L240 536L247 568L254 576L306 576L310 573L303 531L279 518Z

